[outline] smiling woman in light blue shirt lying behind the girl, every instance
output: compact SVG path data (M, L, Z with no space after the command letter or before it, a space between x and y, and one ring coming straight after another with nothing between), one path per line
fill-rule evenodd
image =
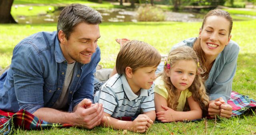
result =
M208 113L210 117L219 115L230 118L232 107L227 103L232 91L232 81L236 72L238 44L231 39L232 17L224 10L209 11L203 19L198 38L189 38L176 44L194 48L200 63L206 68L204 80L210 94ZM125 40L117 40L124 43ZM163 70L163 65L158 66ZM116 73L115 68L112 75ZM157 96L157 94L155 95Z

